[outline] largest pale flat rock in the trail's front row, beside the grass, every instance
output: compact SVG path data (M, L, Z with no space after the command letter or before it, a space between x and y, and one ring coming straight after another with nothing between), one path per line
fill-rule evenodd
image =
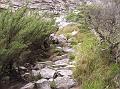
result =
M54 81L57 89L69 89L76 85L76 82L68 76L57 77Z

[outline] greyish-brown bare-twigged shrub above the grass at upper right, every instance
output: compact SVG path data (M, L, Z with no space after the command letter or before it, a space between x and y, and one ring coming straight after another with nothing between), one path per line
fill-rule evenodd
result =
M101 42L107 42L112 60L119 62L120 56L120 3L116 0L107 1L103 6L93 5L89 8L89 23L91 28L100 36Z

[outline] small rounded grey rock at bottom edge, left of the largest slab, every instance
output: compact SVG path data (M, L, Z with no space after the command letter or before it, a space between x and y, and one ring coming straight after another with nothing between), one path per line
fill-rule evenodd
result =
M51 89L50 83L46 79L41 79L36 82L37 89Z

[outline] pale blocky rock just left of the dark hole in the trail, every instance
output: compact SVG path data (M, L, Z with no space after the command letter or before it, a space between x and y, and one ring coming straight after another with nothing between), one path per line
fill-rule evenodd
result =
M41 77L43 78L53 78L53 75L55 73L55 70L53 69L50 69L50 68L43 68L41 71L40 71L40 74L41 74Z

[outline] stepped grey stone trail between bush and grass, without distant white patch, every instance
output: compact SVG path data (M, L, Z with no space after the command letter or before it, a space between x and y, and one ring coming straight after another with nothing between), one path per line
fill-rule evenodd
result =
M38 62L31 74L35 77L40 76L41 79L30 82L20 89L34 89L35 87L37 89L52 89L51 87L53 89L78 89L73 88L77 86L77 82L72 77L75 62L71 61L67 54L74 50L64 35L51 34L51 39L60 43L56 44L56 49L64 51L65 54L54 57L52 61ZM27 74L25 73L24 76Z

